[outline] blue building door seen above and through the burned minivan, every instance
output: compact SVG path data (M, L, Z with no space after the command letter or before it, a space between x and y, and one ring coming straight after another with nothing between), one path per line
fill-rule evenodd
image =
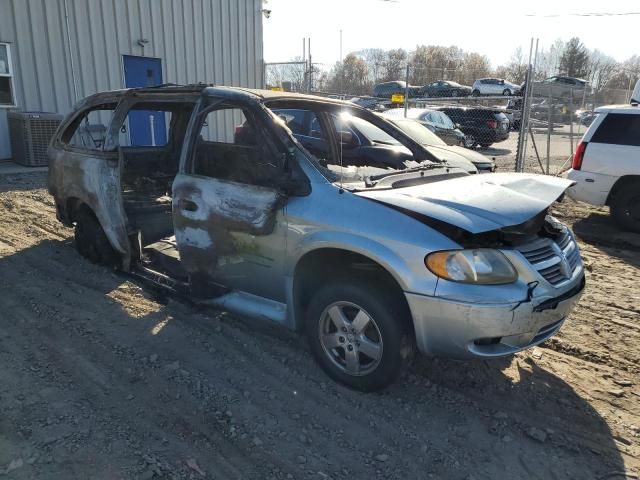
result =
M125 87L153 87L162 84L162 61L159 58L123 55L123 63ZM164 112L132 110L128 120L131 146L166 145L167 125Z

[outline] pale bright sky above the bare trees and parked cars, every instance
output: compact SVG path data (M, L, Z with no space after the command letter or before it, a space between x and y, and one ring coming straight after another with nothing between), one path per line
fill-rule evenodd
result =
M314 63L329 68L340 58L341 29L344 55L455 45L486 55L495 67L518 46L528 54L531 37L548 47L573 36L618 61L640 54L640 15L571 15L640 12L640 0L267 0L264 8L271 10L263 19L267 62L302 56L302 39L311 37Z

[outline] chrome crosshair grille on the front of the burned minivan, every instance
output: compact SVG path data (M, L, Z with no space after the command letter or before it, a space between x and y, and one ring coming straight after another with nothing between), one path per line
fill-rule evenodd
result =
M578 245L567 227L555 240L540 237L517 249L554 286L568 281L581 268Z

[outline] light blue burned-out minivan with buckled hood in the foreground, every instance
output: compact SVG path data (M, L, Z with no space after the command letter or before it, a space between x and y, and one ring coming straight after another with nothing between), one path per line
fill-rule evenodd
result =
M322 158L272 111L285 109L317 117ZM120 132L133 111L164 117L166 138L131 145ZM92 112L110 118L99 148L74 143ZM348 161L350 117L411 159ZM486 359L537 345L584 288L574 236L549 216L569 180L469 175L339 100L202 85L100 93L61 123L49 156L57 217L81 255L304 330L321 367L353 388L388 385L416 348Z

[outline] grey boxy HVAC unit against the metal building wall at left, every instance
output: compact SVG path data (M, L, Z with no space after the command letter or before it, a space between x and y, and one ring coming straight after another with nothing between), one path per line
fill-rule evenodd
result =
M63 116L49 112L9 112L13 160L27 167L47 165L47 147Z

